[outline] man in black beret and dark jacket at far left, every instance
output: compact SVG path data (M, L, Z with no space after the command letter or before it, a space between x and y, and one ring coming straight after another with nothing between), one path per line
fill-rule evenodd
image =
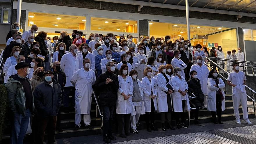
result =
M8 107L12 120L10 143L23 143L28 129L29 118L34 111L34 97L32 86L26 76L29 74L30 64L18 63L15 66L17 74L10 76L6 83Z

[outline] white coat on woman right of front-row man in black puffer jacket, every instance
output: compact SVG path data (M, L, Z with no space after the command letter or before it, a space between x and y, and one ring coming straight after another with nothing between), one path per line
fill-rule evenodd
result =
M126 80L123 79L122 75L118 76L119 86L118 96L116 102L116 113L117 114L129 114L132 113L132 93L133 93L133 82L130 76L126 76ZM129 99L125 99L121 94L131 95Z

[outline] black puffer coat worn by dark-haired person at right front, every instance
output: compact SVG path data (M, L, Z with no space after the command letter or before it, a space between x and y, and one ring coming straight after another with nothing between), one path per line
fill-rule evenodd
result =
M195 95L194 99L191 99L191 102L197 107L204 106L204 94L201 89L200 80L197 81L190 77L188 80L189 92ZM188 93L189 94L189 93Z

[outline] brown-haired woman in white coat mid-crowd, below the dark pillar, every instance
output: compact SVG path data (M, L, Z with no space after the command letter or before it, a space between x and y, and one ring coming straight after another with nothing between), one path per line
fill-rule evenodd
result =
M138 71L138 79L142 80L143 76L143 71L146 68L146 63L147 63L147 57L145 54L143 54L143 47L139 46L138 47L138 53L135 54L135 56L139 59L140 65L136 68ZM135 51L136 52L136 51Z

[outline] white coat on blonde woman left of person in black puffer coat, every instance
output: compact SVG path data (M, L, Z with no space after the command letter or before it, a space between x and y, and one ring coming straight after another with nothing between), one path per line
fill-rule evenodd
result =
M188 94L186 95L181 95L181 93L178 92L178 90L182 90L183 92L185 90L188 90L188 83L186 82L185 78L181 76L181 79L179 79L178 76L173 76L171 79L171 83L173 86L174 93L173 95L173 109L175 112L182 112L182 98L185 97L186 99L186 104L184 111L190 111L190 104L189 104L189 97Z

